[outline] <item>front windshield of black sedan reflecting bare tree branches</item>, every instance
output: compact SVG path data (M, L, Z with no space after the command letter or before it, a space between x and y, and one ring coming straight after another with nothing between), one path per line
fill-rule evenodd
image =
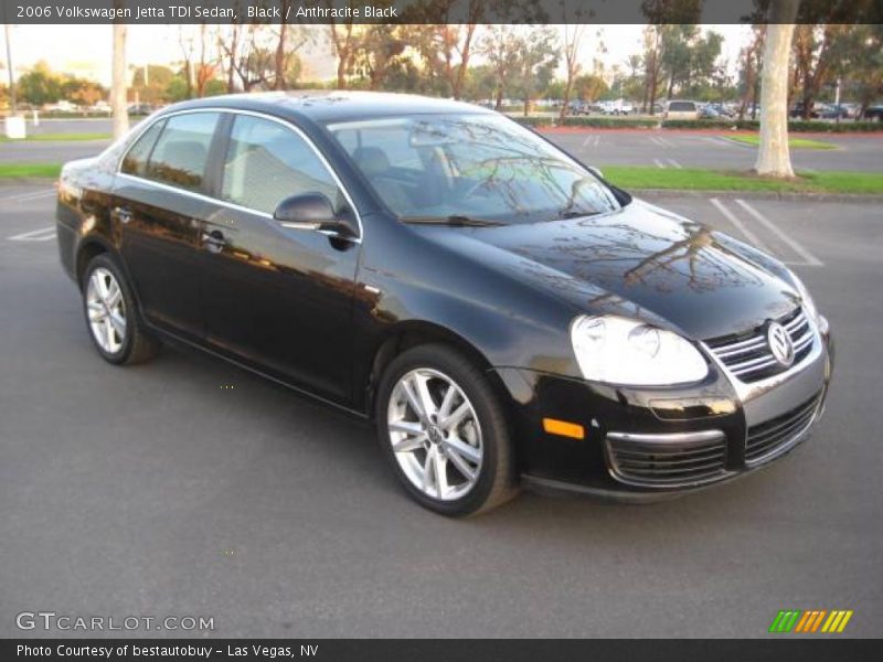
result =
M585 168L498 115L419 115L328 130L402 221L533 223L619 207Z

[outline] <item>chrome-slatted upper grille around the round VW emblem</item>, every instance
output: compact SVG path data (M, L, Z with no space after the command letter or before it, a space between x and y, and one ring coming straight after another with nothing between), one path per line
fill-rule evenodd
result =
M776 320L788 331L794 344L796 365L812 350L812 328L801 308ZM770 377L788 367L781 365L766 338L766 327L757 327L745 333L709 340L705 345L740 381L751 383Z

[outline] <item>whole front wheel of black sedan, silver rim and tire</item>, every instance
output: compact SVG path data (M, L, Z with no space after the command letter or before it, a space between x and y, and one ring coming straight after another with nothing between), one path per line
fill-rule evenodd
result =
M517 493L499 398L487 376L453 349L421 345L393 360L376 418L393 470L425 508L474 515Z

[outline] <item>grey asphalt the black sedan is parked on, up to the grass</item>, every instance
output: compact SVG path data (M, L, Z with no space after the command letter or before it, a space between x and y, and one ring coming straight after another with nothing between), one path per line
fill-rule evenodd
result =
M844 636L879 636L883 211L659 202L816 293L839 361L815 437L672 502L522 494L450 521L359 423L194 353L100 361L51 189L0 189L0 636L51 610L206 616L219 637L763 637L787 608L852 609Z

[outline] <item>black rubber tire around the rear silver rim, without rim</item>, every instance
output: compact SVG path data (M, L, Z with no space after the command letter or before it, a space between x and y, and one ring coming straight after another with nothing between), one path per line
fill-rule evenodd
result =
M97 269L106 269L113 275L119 286L123 297L126 313L126 331L121 339L120 346L116 351L108 351L103 348L92 330L87 305L87 288L89 279ZM83 314L86 321L86 331L95 349L98 351L98 354L102 355L102 359L115 365L134 365L136 363L149 361L157 354L160 349L160 343L156 337L150 334L145 328L138 311L138 305L132 296L131 288L126 280L123 269L120 269L119 265L117 265L116 260L109 254L102 253L89 261L86 266L86 270L83 273L81 291L83 292Z

